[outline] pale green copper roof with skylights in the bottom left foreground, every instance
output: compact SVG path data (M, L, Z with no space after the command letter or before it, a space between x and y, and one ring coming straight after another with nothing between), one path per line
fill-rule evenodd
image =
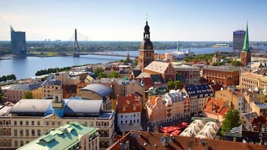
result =
M89 135L89 138L97 137L98 128L72 122L56 129L50 129L40 138L25 144L23 147L19 147L19 149L76 149L79 146L80 138L86 134Z

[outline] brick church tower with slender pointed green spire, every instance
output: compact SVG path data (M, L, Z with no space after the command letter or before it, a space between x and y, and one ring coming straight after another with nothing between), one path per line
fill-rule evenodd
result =
M245 31L243 49L241 51L240 56L241 56L241 66L246 67L248 63L250 63L251 61L250 42L248 40L248 22L247 22L247 29Z

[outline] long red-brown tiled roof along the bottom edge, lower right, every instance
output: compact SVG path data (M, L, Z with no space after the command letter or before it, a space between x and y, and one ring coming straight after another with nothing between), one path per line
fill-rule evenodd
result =
M266 147L258 144L248 144L243 142L232 142L226 140L214 140L204 139L200 144L200 138L183 137L179 135L172 135L173 141L170 142L170 135L163 133L150 133L141 131L140 135L138 131L132 131L127 133L120 141L115 142L108 150L113 149L126 149L126 142L129 141L129 149L193 149L203 150L208 147L209 150L264 150ZM165 144L161 141L161 138L165 138ZM120 144L122 143L122 144Z

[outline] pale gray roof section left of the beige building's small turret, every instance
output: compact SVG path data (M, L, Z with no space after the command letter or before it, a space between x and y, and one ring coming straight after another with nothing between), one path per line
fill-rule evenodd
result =
M45 113L51 101L51 99L22 99L15 104L11 113Z

